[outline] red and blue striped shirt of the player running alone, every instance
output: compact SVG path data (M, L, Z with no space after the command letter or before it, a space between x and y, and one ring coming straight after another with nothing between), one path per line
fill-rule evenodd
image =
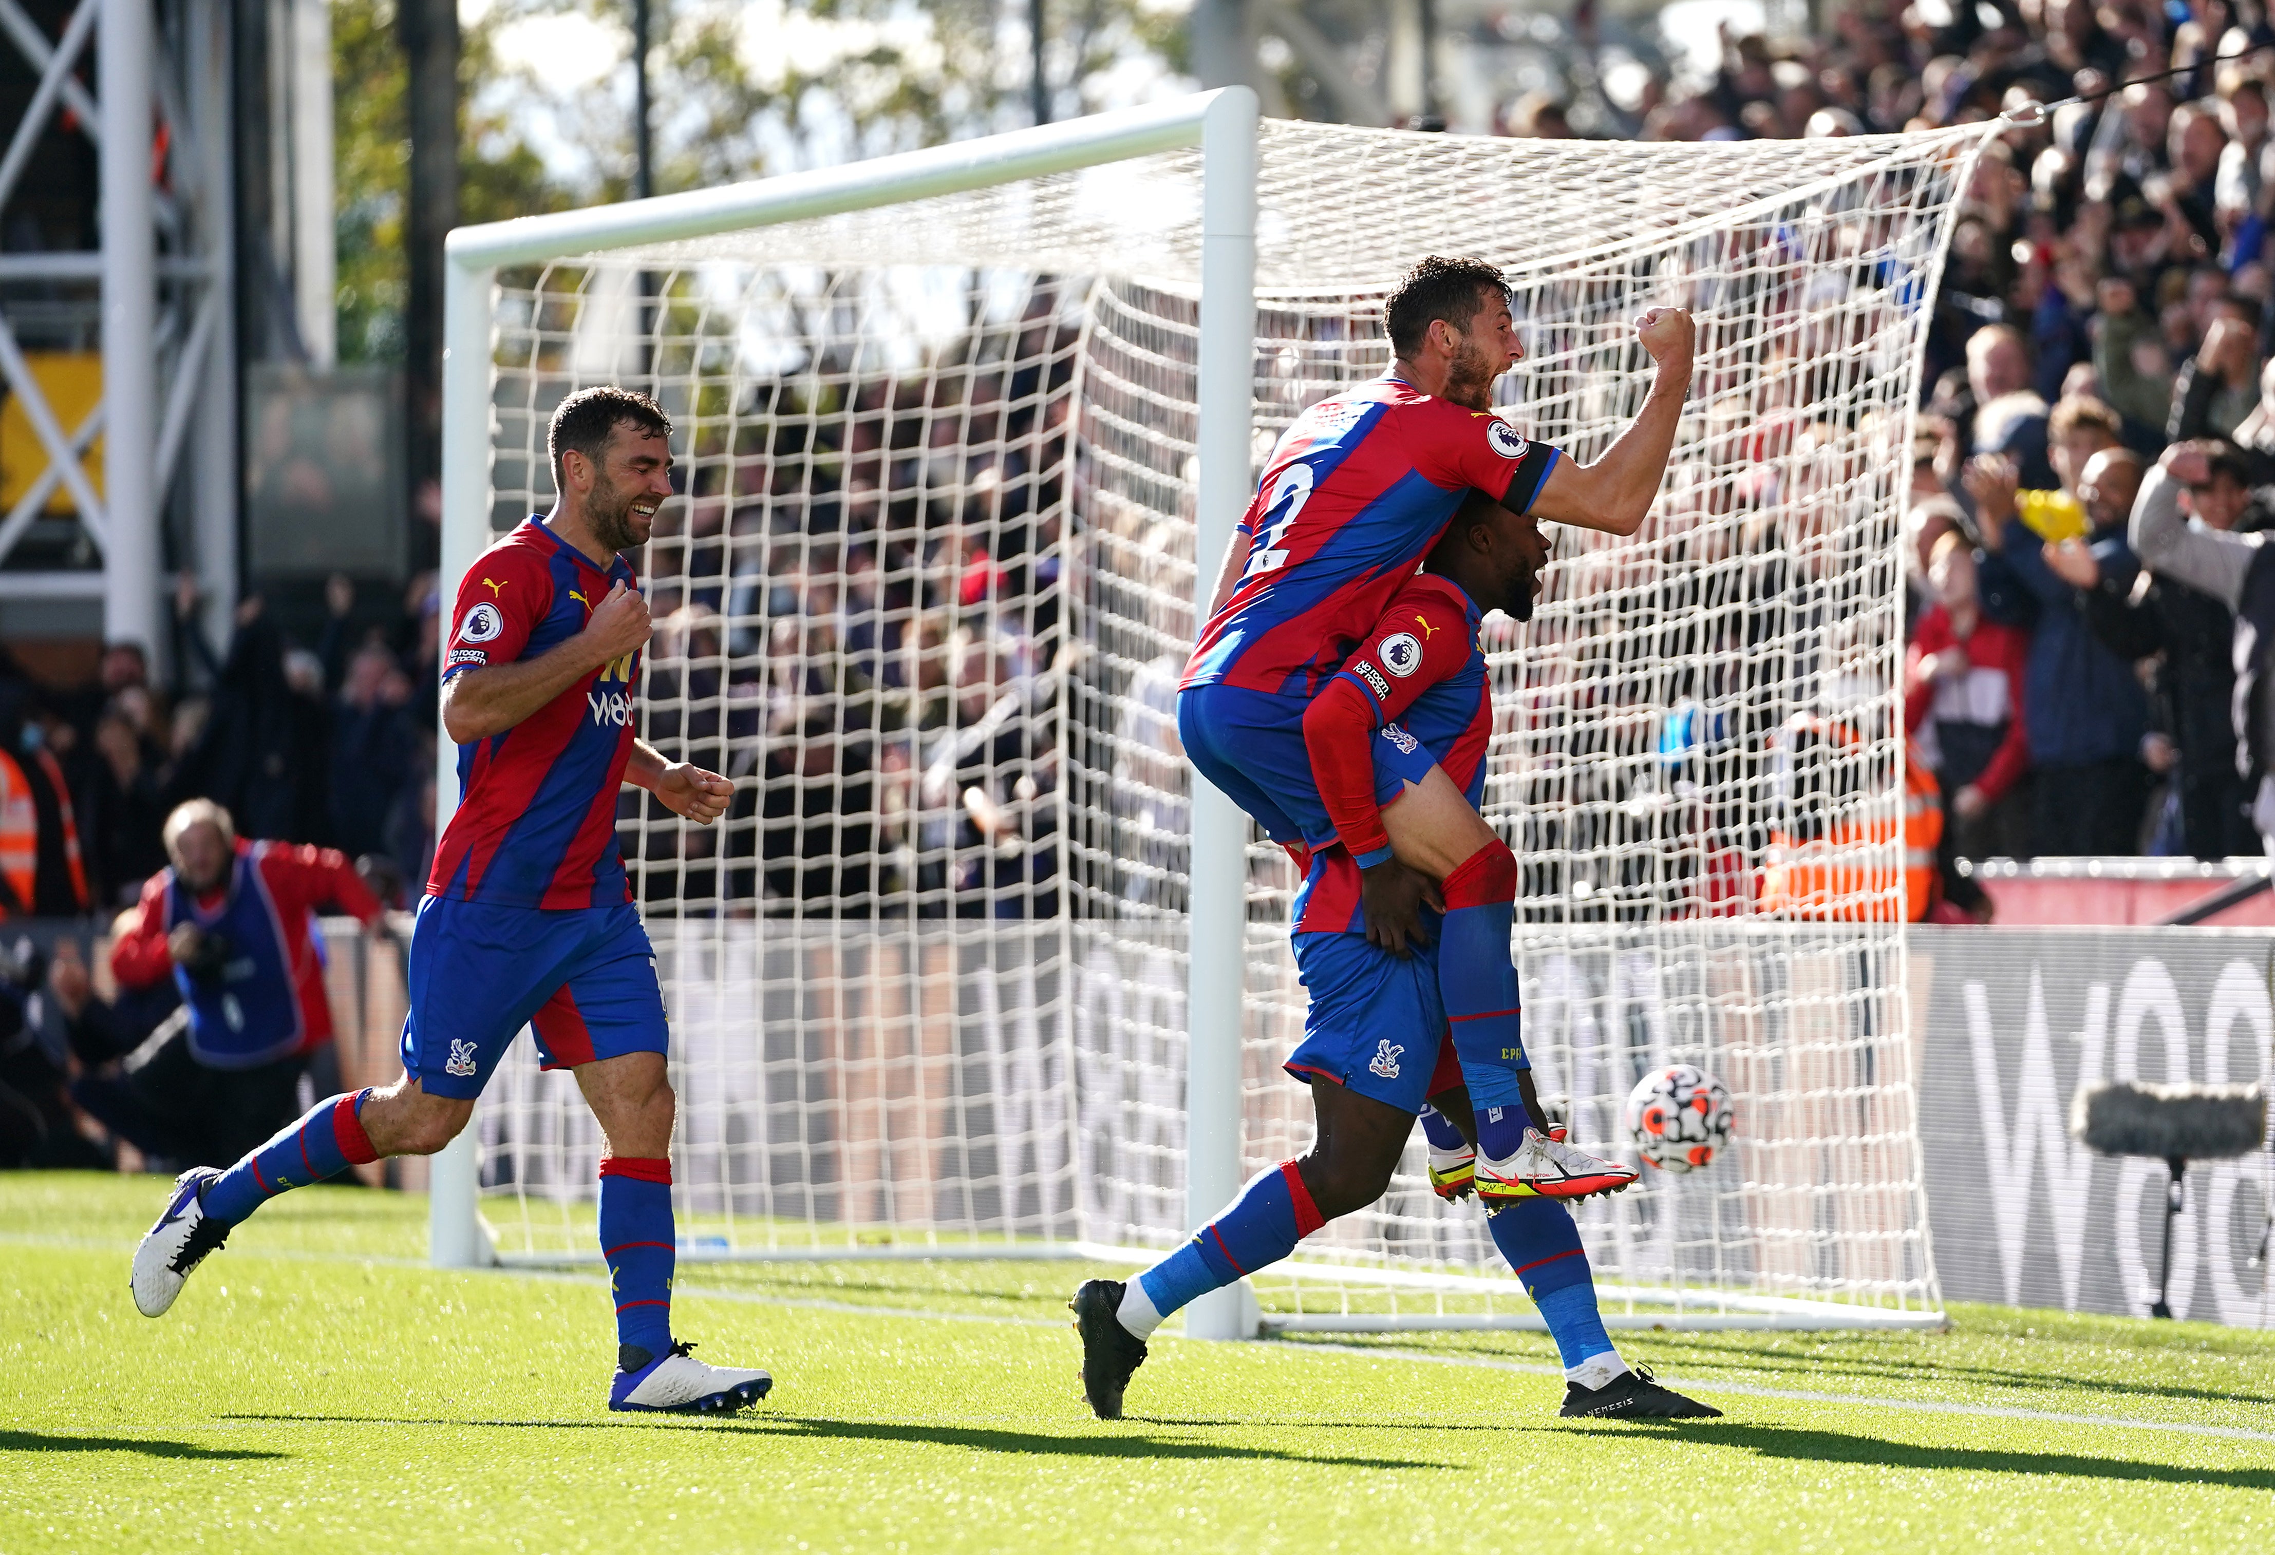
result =
M541 516L528 518L466 568L444 680L557 648L617 582L637 587L623 557L603 571ZM635 648L514 727L457 748L460 800L435 846L428 896L548 909L632 900L617 791L632 759L639 662Z

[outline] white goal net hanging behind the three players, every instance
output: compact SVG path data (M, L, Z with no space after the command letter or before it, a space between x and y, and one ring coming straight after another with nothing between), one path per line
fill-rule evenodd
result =
M1986 130L1260 130L1258 468L1304 407L1385 371L1381 300L1422 255L1504 266L1527 357L1495 398L1583 461L1649 386L1633 314L1697 309L1647 525L1558 530L1536 618L1486 627L1486 814L1522 862L1542 1091L1613 1157L1649 1068L1702 1064L1736 1103L1711 1169L1579 1205L1624 1321L1941 1307L1900 930L1897 543L1922 332ZM676 421L639 730L735 803L694 828L628 793L619 834L671 1012L682 1257L1135 1262L1190 1232L1174 687L1197 627L1201 177L1199 150L1167 150L569 248L482 293L494 530L551 505L546 418L571 389L642 386ZM1294 884L1254 837L1247 1171L1310 1139L1279 1068L1304 1018ZM478 1139L498 1255L592 1257L598 1137L526 1039ZM1481 1212L1431 1196L1420 1134L1374 1209L1256 1294L1281 1328L1536 1321Z

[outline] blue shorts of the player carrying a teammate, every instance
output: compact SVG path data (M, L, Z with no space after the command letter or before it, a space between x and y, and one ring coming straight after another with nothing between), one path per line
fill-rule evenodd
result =
M1399 1112L1422 1112L1461 1084L1436 955L1399 959L1365 934L1297 934L1294 966L1310 1009L1290 1075L1333 1080Z

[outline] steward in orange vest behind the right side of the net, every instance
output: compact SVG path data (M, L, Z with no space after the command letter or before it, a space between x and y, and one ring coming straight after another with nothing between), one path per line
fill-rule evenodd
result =
M1936 871L1943 796L1918 752L1906 743L1904 818L1897 828L1893 814L1872 814L1875 807L1856 798L1875 755L1854 730L1795 714L1770 743L1786 818L1770 832L1761 912L1834 923L1925 921L1943 893Z

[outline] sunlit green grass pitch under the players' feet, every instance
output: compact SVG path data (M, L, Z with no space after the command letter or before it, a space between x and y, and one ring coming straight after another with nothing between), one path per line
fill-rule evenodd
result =
M2275 1337L1986 1307L1945 1334L1624 1334L1729 1410L1558 1421L1545 1339L1165 1339L1092 1421L1065 1264L689 1266L776 1375L603 1407L596 1278L444 1275L425 1203L291 1194L146 1321L157 1180L0 1178L0 1550L2243 1550ZM1793 1396L1793 1394L1811 1394ZM2036 1416L2036 1419L2034 1419ZM2059 1419L2043 1419L2059 1416Z

